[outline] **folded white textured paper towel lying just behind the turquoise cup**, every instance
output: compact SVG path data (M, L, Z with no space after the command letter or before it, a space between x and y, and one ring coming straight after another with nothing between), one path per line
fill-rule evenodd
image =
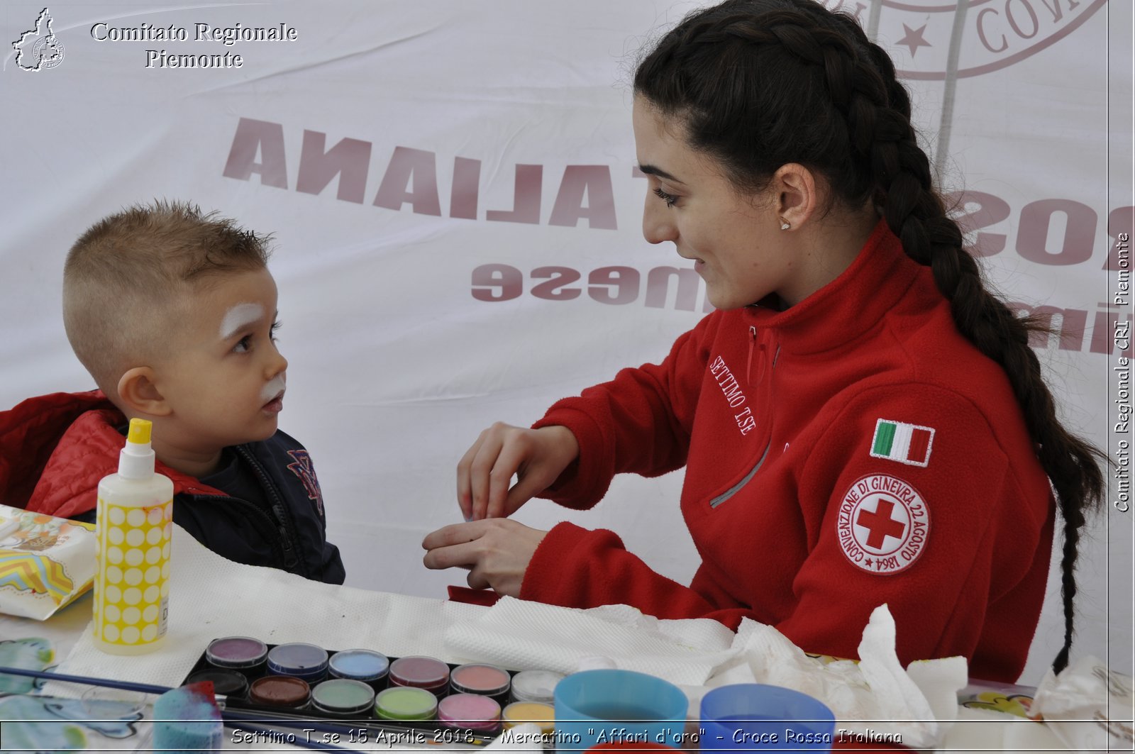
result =
M715 620L659 620L628 605L590 610L502 597L445 632L451 654L514 670L575 672L608 657L614 667L699 686L730 661L733 632Z

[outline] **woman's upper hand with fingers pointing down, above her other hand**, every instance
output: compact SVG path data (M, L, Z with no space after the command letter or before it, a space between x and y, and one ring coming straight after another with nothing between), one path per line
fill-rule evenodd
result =
M498 421L480 434L457 463L461 512L469 521L511 516L555 481L578 455L579 443L566 427L524 429ZM510 489L513 475L516 484Z

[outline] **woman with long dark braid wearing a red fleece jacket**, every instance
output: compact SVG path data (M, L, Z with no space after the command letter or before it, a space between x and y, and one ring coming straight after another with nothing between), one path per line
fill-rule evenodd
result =
M1101 454L1060 426L1029 325L962 249L886 53L812 0L731 0L642 60L633 126L644 235L693 261L716 311L661 365L481 433L457 467L472 520L427 536L426 566L566 606L748 617L846 657L886 603L903 662L1012 681L1059 509L1063 667ZM611 531L502 518L683 466L689 586Z

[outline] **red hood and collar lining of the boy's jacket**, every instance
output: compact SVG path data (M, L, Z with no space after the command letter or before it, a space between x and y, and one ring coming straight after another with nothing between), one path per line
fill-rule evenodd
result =
M94 509L99 480L118 471L126 417L100 391L52 393L0 412L0 501L67 518ZM158 462L174 494L222 495Z

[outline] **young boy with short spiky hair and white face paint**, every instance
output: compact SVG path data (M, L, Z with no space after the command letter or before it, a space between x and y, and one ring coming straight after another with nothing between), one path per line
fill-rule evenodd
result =
M0 413L0 501L91 521L133 417L153 422L174 521L229 560L342 584L308 451L278 430L268 236L191 204L96 223L64 268L67 338L98 391Z

